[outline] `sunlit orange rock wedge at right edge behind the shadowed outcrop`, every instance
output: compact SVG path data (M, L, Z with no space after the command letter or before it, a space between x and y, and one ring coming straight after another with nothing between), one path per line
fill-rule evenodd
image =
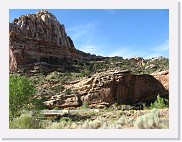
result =
M169 90L169 70L157 71L151 75L154 76L159 82L161 82L166 90Z

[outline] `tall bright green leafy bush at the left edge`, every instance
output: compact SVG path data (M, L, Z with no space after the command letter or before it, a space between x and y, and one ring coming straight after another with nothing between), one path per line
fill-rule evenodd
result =
M20 115L20 110L28 106L30 97L35 93L31 80L24 76L10 75L9 78L9 111L11 117Z

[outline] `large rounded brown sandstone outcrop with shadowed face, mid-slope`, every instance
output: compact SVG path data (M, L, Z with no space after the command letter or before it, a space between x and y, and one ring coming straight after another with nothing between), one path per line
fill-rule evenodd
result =
M147 74L133 75L130 71L116 70L96 73L90 78L84 78L78 83L70 84L69 89L77 92L81 102L88 102L90 105L96 104L97 106L101 104L111 105L115 102L120 104L151 102L156 99L157 95L168 96L168 91L153 76ZM52 100L56 101L56 99L51 98L51 102ZM51 106L51 102L47 102L47 105Z

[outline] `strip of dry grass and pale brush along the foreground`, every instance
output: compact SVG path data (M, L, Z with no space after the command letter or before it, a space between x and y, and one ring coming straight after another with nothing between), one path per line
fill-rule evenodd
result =
M76 117L77 116L77 117ZM79 116L79 117L78 117ZM10 122L11 128L27 129L168 129L168 109L105 111L82 113L62 117L60 121L44 120L35 123L30 114L22 115ZM84 119L82 119L84 118ZM31 125L29 125L31 124ZM36 125L36 126L34 126Z

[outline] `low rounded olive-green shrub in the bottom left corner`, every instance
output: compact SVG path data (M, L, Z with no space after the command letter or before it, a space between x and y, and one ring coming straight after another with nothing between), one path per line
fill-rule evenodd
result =
M10 129L38 129L41 128L39 121L31 114L22 114L20 117L14 118L9 123Z

